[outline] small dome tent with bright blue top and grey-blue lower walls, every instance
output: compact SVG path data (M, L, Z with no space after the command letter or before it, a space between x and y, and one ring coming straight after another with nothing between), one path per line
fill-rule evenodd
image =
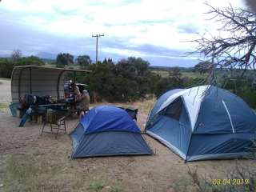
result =
M125 110L96 106L70 134L72 158L152 154L136 123Z

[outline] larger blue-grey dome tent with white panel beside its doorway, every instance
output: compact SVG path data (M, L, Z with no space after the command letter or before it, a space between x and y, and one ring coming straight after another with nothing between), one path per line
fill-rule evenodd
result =
M146 133L186 161L239 158L256 139L256 114L215 86L170 90L150 111Z

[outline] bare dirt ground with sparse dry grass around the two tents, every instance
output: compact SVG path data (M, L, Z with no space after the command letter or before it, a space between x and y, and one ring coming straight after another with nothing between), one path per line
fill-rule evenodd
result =
M10 101L10 81L0 85L0 102ZM5 91L2 91L5 90ZM142 128L154 101L135 102ZM237 161L187 162L145 135L153 156L70 159L69 135L43 134L41 124L18 127L10 111L0 112L0 191L197 191L188 168L200 177L226 178ZM77 119L67 121L70 132ZM255 167L250 160L238 163ZM200 178L200 179L202 179Z

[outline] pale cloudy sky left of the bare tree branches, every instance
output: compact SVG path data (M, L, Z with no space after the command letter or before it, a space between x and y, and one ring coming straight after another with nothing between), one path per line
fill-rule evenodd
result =
M141 57L153 66L194 66L190 40L206 30L218 34L218 24L206 20L206 0L2 0L0 55L22 50L24 55L55 57L60 52L99 58ZM226 0L208 0L225 7ZM234 7L246 7L232 0Z

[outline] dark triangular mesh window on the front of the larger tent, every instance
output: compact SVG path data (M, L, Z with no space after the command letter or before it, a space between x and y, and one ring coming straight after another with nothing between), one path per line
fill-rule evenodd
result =
M182 98L177 98L170 104L170 106L166 107L166 110L164 111L164 115L174 118L177 121L179 121L179 118L182 114Z

